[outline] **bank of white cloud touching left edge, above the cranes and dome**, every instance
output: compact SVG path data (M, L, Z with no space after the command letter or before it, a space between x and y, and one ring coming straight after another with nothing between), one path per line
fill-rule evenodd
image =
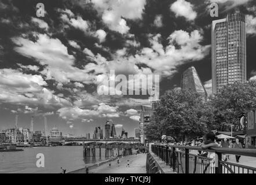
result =
M39 75L28 75L15 69L0 69L0 101L25 105L68 106L71 103L43 87Z

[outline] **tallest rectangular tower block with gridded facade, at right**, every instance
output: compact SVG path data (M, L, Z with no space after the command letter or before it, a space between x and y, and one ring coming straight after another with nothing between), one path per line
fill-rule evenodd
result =
M234 82L246 82L246 22L236 10L211 25L213 93Z

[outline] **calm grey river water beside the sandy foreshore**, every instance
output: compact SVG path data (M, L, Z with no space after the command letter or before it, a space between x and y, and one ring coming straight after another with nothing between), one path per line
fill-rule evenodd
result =
M36 166L36 154L45 156L45 167ZM67 172L84 168L99 161L107 160L101 149L101 158L96 149L96 157L83 157L83 146L54 146L24 148L24 151L0 152L0 173L60 173L60 167Z

